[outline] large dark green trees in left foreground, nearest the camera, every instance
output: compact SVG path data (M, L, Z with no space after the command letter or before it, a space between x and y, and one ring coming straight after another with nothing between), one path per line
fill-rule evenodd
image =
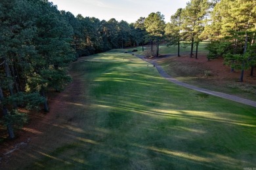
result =
M1 109L13 109L4 121L12 129L25 122L19 107L38 109L45 102L39 93L71 81L74 29L49 1L3 0L0 10Z

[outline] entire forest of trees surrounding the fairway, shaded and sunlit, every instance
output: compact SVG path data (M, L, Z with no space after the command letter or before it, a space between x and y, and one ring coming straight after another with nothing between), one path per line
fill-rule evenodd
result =
M125 18L124 18L125 19ZM144 44L182 43L190 57L198 44L210 41L208 59L223 57L232 69L256 64L256 1L191 0L165 24L160 12L135 23L74 16L48 0L0 2L0 121L14 138L14 129L27 120L26 112L49 111L47 93L60 92L72 81L68 66L81 56ZM151 46L151 51L153 47ZM178 50L178 56L180 56Z

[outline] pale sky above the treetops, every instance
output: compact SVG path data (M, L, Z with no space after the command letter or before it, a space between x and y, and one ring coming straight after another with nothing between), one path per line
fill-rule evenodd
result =
M189 0L49 0L58 6L58 10L72 12L74 16L95 17L99 20L124 20L136 22L140 16L147 17L151 12L161 12L165 22L177 9L186 7Z

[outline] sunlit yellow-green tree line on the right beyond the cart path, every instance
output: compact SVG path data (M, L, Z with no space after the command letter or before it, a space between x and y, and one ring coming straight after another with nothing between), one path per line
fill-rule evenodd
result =
M256 65L256 1L250 0L191 0L184 9L178 9L165 27L165 38L169 44L180 42L191 46L198 54L198 44L203 40L207 46L208 59L224 58L224 63L241 70L240 81L244 80L245 69ZM178 56L179 56L178 50Z

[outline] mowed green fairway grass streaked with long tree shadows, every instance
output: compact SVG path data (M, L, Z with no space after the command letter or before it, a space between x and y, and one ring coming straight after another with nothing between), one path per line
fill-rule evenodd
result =
M86 95L66 110L72 141L28 168L256 167L255 108L171 84L131 54L82 58L72 72Z

